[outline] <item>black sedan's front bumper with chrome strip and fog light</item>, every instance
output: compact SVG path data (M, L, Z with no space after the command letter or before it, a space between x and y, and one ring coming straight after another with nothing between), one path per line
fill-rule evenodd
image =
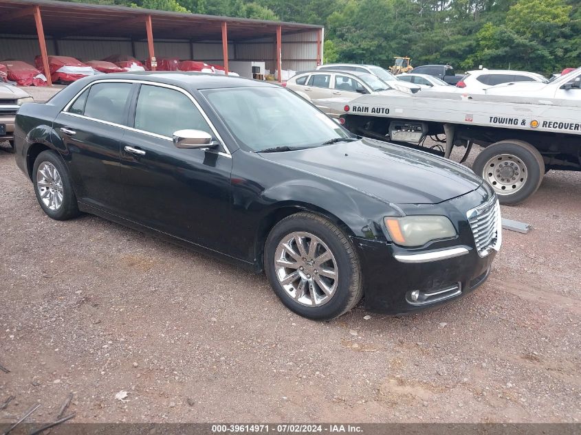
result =
M353 238L364 281L365 306L379 313L406 313L460 298L479 287L501 244L498 214L496 243L479 254L468 214L495 201L487 186L436 205L404 206L406 214L448 216L458 236L424 249L406 249L384 240ZM407 210L406 210L407 209Z

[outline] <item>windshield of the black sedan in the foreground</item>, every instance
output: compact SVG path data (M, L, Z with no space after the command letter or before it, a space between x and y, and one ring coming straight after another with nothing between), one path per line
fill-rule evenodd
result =
M314 106L283 88L244 87L202 91L241 146L260 152L312 148L352 137Z

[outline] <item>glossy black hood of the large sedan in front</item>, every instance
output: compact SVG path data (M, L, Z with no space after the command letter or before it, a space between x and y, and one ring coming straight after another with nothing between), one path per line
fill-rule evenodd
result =
M440 203L472 192L482 183L472 170L453 161L367 139L261 156L386 203Z

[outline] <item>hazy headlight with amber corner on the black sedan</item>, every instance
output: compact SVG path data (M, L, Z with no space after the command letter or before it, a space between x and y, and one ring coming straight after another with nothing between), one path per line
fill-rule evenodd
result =
M391 240L402 246L421 246L438 238L456 236L454 225L446 216L388 216L384 223Z

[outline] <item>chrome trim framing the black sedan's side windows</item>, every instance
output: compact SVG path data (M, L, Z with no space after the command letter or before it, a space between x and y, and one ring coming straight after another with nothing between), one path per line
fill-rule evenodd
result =
M104 121L104 120L98 120L96 118L90 118L89 116L79 115L78 113L71 113L68 111L70 109L70 107L74 104L76 99L83 92L85 92L87 89L89 89L89 87L96 85L98 83L131 83L131 84L139 83L141 85L151 85L151 86L157 86L157 87L164 87L167 89L173 89L175 91L179 91L179 92L183 93L186 97L188 97L190 99L191 102L193 102L194 106L199 110L199 113L201 113L204 120L210 126L210 129L212 129L212 132L216 135L217 140L220 141L220 144L223 146L224 150L226 150L226 153L219 152L218 154L223 155L225 157L232 158L232 153L230 153L230 149L228 149L228 146L226 146L226 143L223 141L223 139L220 136L220 134L218 133L216 127L214 126L214 124L212 124L212 121L210 121L210 118L208 118L208 115L206 115L206 112L204 111L204 109L201 108L201 106L199 105L197 100L188 91L186 91L185 89L182 89L181 87L175 86L175 85L168 85L166 83L160 83L160 82L150 82L149 80L135 80L135 79L129 79L129 78L106 78L106 79L102 79L102 80L94 80L93 82L90 82L85 87L83 87L83 89L78 91L78 93L76 93L75 96L63 108L61 113L63 113L64 115L76 116L77 118L83 118L85 120L100 122L101 124L107 124L107 125L119 127L120 129L134 131L135 133L142 133L144 135L149 135L152 137L157 137L158 139L165 139L165 140L169 140L169 141L173 142L172 137L158 135L157 133L151 133L151 131L135 129L135 128L127 126L127 125L117 124L116 122L109 122L109 121ZM208 148L201 148L201 149L208 149Z

